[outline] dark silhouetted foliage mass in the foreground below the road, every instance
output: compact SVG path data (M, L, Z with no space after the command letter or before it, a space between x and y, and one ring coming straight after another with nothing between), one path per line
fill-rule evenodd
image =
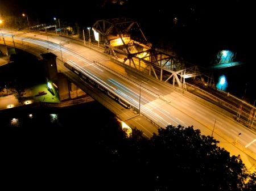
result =
M117 128L118 129L118 128ZM119 129L121 130L121 129ZM117 135L117 134L115 134ZM112 190L253 190L240 156L230 156L213 137L193 126L167 126L150 139L135 129L131 137L119 133L101 142L105 188ZM115 140L115 141L114 141ZM100 176L103 178L102 176ZM114 183L113 183L114 180ZM246 183L247 182L247 183ZM114 185L112 185L114 184Z

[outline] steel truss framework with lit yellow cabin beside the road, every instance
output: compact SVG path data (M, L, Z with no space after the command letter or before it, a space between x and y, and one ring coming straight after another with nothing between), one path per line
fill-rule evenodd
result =
M152 48L148 43L139 24L128 18L115 18L109 20L98 20L93 28L99 32L104 40L107 53L115 52L124 56L123 63L129 60L129 66L142 72L153 73L156 79L168 82L172 78L179 88L186 77L196 77L201 73L199 70L188 68L181 63L177 57L160 52Z

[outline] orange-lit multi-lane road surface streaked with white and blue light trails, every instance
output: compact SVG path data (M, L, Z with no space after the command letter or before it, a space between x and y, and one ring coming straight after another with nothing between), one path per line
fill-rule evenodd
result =
M94 52L73 40L55 35L9 31L9 36L5 35L5 40L9 43L13 41L11 33L15 35L16 45L22 40L25 45L30 44L45 51L49 49L47 51L56 54L60 60L80 70L113 94L122 97L127 103L140 108L144 116L159 126L164 128L167 125L180 124L185 127L193 125L204 135L213 134L213 137L220 141L220 146L225 145L228 151L236 146L241 151L251 152L254 158L251 163L255 164L256 135L232 118L189 99L163 82L138 74L134 70L125 70L124 67L111 61L109 56ZM239 133L241 135L238 135ZM226 145L226 142L230 144ZM245 160L251 161L249 158Z

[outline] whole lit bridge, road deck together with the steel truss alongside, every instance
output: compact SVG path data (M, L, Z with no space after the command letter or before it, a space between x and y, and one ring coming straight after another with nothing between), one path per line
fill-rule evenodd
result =
M243 162L255 161L254 131L234 120L227 109L186 91L186 88L196 89L185 82L186 75L196 76L199 73L187 73L188 69L183 68L183 63L177 58L151 49L149 43L144 47L135 39L131 44L123 41L122 46L127 45L125 49L114 46L118 41L111 43L112 40L122 39L123 34L119 33L119 38L110 38L115 33L110 29L118 28L122 22L108 22L101 20L93 26L100 33L104 47L44 31L30 33L14 29L2 29L0 42L39 58L43 53L52 52L57 56L60 73L109 108L120 120L141 129L148 137L159 127L170 124L193 125L202 134L213 134L220 141L220 146L230 152L234 153L239 147L245 153L239 153ZM110 27L106 27L107 24ZM105 26L105 29L100 26ZM127 26L138 28L137 23L131 20L127 21ZM132 46L143 48L136 53ZM170 79L172 83L167 83ZM205 95L209 99L217 99L207 92ZM253 118L253 114L250 116ZM239 133L244 136L234 144Z

